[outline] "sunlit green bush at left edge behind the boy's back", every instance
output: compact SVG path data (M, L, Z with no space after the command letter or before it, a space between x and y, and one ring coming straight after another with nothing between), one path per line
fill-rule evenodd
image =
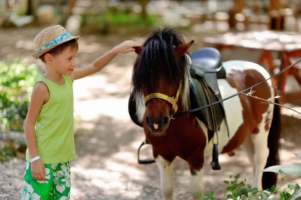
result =
M38 67L26 66L22 61L16 58L0 62L0 132L23 128Z

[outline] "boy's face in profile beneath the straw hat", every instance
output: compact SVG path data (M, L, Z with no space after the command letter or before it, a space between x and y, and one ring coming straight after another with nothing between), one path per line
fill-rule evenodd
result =
M70 76L76 65L77 49L70 47L63 50L59 55L53 56L53 66L57 72Z

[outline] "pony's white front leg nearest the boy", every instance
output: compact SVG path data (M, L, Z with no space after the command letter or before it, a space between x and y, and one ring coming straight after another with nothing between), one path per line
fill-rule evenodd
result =
M173 163L164 159L161 155L155 158L160 170L161 191L165 200L174 198Z

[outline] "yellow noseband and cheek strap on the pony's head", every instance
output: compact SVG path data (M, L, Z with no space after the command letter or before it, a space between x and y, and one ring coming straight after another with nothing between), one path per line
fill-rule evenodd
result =
M174 119L173 115L178 110L177 102L178 102L178 99L179 99L181 88L182 88L182 84L180 83L179 87L178 87L178 90L177 90L177 93L176 93L176 97L169 97L166 94L162 94L162 93L151 93L151 94L147 95L144 98L144 104L146 106L146 102L149 101L150 99L163 99L163 100L169 102L170 104L172 104L173 107L172 107L172 112L171 112L170 118Z

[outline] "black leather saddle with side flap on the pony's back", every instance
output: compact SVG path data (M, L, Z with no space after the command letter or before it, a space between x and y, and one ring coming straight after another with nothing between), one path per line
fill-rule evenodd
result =
M202 48L191 55L191 60L192 63L189 65L191 108L199 108L221 100L217 79L225 78L226 71L219 51L211 47ZM199 110L194 114L209 129L208 140L213 137L225 118L222 103Z

